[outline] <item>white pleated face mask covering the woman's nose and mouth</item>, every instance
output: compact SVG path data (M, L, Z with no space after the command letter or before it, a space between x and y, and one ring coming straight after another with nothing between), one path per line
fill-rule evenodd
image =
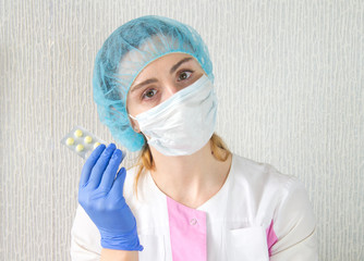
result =
M217 98L204 74L168 100L135 117L148 144L165 156L192 154L215 130Z

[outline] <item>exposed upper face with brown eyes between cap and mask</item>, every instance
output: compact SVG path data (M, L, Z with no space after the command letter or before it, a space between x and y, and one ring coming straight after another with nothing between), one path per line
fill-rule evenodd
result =
M148 111L205 74L195 58L186 53L169 53L148 64L137 75L126 97L132 116ZM135 132L137 122L131 119Z

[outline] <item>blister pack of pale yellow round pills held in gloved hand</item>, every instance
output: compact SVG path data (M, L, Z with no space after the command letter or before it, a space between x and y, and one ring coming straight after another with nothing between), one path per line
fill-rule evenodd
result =
M68 133L62 139L61 144L68 147L70 150L86 159L93 152L93 150L100 144L107 144L92 134L89 130L82 126L75 126L70 133ZM122 158L125 157L125 151L122 151Z

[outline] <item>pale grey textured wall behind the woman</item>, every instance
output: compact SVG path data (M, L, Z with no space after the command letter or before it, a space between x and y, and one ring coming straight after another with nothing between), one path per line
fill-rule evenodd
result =
M0 259L69 260L84 161L60 139L80 124L112 141L92 100L96 51L159 14L209 47L230 148L306 184L321 260L364 260L363 1L153 2L0 0Z

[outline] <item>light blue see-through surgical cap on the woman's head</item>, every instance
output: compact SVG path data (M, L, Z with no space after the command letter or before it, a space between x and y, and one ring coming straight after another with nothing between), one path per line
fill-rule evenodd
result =
M163 16L129 21L107 38L96 55L93 87L99 119L130 151L141 150L145 138L134 132L126 112L129 88L145 66L173 52L194 57L214 83L213 63L198 33Z

